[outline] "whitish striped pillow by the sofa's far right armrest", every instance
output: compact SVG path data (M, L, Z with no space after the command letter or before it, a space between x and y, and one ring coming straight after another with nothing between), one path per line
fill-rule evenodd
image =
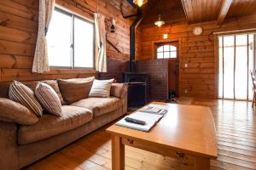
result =
M94 80L90 88L89 97L109 98L112 83L113 79Z

